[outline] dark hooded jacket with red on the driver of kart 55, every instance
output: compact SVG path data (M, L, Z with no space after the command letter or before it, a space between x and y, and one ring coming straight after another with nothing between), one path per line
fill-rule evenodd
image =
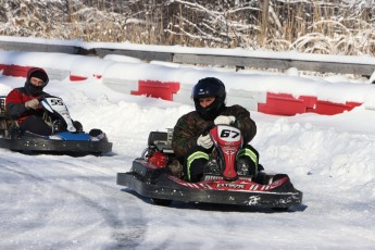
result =
M33 95L33 91L30 91L30 75L36 72L41 71L46 73L42 68L39 67L33 67L27 73L27 78L25 86L22 88L15 88L10 93L8 93L5 103L7 103L7 114L16 120L18 124L21 124L27 116L29 115L43 115L43 110L41 105L39 105L39 109L37 110L27 110L25 107L25 102L33 100L37 98L40 100L41 98L49 97L50 95L43 91L38 92L37 95ZM47 74L46 74L47 75ZM48 78L45 83L45 86L48 84Z

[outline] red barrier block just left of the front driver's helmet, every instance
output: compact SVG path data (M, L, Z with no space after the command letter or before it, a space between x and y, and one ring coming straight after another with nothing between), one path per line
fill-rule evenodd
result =
M179 83L163 83L159 80L139 80L138 91L130 91L132 95L161 98L173 101L173 93L179 90Z

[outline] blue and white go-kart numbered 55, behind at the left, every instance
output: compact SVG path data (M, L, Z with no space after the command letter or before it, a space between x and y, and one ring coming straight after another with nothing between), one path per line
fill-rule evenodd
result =
M25 153L103 154L112 151L112 142L98 129L85 133L79 122L71 118L63 100L47 97L40 100L43 120L51 126L51 136L22 132L16 122L8 117L5 97L0 97L0 148Z

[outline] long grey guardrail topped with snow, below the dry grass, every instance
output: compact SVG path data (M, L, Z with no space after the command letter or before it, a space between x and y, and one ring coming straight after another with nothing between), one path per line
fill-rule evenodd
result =
M145 46L146 48L147 46ZM154 46L152 46L154 48ZM111 48L92 48L86 49L79 46L70 45L53 45L53 43L35 43L23 41L2 41L0 40L0 49L12 51L34 51L34 52L59 52L68 54L82 54L82 55L96 55L104 57L107 54L120 54L138 58L145 61L165 61L174 63L186 64L207 64L207 65L223 65L223 66L236 66L254 67L254 68L277 68L288 70L296 67L300 71L309 72L323 72L323 73L341 73L341 74L354 74L370 77L375 72L375 60L371 62L346 62L335 60L335 55L328 55L332 60L316 59L291 59L283 58L279 53L274 52L272 55L257 57L257 55L230 55L230 54L210 54L210 49L207 49L204 53L197 52L178 52L175 51L151 51L141 49L111 49ZM193 51L193 50L191 50ZM327 57L327 55L326 55ZM304 57L309 58L309 57Z

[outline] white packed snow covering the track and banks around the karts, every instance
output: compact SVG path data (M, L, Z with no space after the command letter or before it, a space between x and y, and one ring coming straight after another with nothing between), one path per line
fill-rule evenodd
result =
M30 65L33 57L28 54L22 55ZM72 66L64 64L70 61L63 57L43 57L63 68ZM85 60L82 64L87 63L88 59L75 58L75 65L80 59ZM150 74L150 64L127 63ZM173 68L162 64L159 75L167 77ZM132 76L133 72L125 70L124 74ZM189 72L191 84L203 75L214 75L222 76L230 89L249 77L250 83L257 79L257 86L249 88L282 89L285 84L299 95L308 86L322 96L327 92L320 88L330 93L329 89L336 88L338 99L353 95L365 104L330 116L251 111L258 125L252 145L261 154L260 162L267 172L290 176L295 187L303 191L302 205L289 212L184 202L165 208L117 186L116 173L128 171L132 161L140 157L149 132L173 127L179 116L193 110L192 103L125 95L95 77L76 83L68 77L53 79L45 90L61 97L86 130L104 130L113 152L73 158L0 149L1 249L374 249L372 85L365 80L352 84L343 76L311 79L293 71L183 71ZM24 82L0 75L0 95ZM353 86L362 90L355 91Z

